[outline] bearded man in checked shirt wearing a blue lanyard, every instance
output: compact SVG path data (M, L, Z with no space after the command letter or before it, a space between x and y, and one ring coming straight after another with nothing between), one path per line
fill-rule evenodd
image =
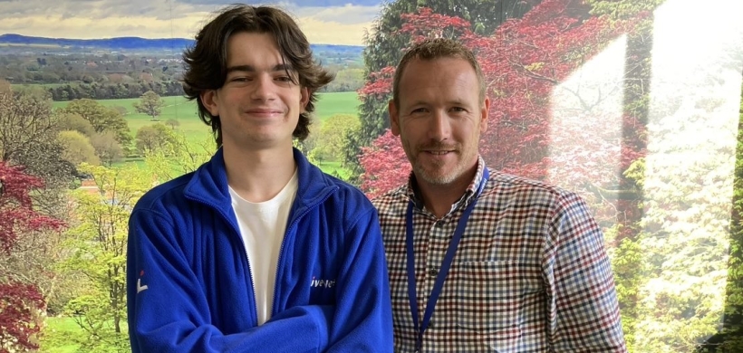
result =
M603 234L584 202L479 157L485 87L472 52L446 39L414 45L395 72L392 133L413 172L373 201L395 350L626 351Z

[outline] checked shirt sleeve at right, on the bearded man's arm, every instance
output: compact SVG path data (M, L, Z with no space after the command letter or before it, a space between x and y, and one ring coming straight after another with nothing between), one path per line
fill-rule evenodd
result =
M611 262L583 199L557 197L543 271L555 352L626 352Z

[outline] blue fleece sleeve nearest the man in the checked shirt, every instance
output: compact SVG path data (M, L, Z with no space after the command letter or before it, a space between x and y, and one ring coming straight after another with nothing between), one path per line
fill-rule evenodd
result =
M328 352L392 352L392 311L381 230L372 204L351 220Z

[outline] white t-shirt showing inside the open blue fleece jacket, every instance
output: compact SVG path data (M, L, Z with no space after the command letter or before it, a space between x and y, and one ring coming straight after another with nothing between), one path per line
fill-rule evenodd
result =
M235 210L237 224L246 247L247 261L250 263L250 272L253 275L258 325L271 319L276 264L297 186L294 171L289 183L274 198L257 204L246 201L238 196L232 187L229 188L232 209Z

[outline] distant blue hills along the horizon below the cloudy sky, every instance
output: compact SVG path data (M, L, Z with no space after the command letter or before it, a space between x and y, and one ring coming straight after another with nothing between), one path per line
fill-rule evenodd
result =
M106 39L68 39L68 38L46 38L33 37L21 34L7 33L0 35L0 52L5 48L40 51L108 51L108 52L182 52L193 45L194 40L186 38L160 38L147 39L140 37L116 37ZM312 44L313 51L333 52L348 56L360 56L363 51L358 45L336 45L336 44Z

